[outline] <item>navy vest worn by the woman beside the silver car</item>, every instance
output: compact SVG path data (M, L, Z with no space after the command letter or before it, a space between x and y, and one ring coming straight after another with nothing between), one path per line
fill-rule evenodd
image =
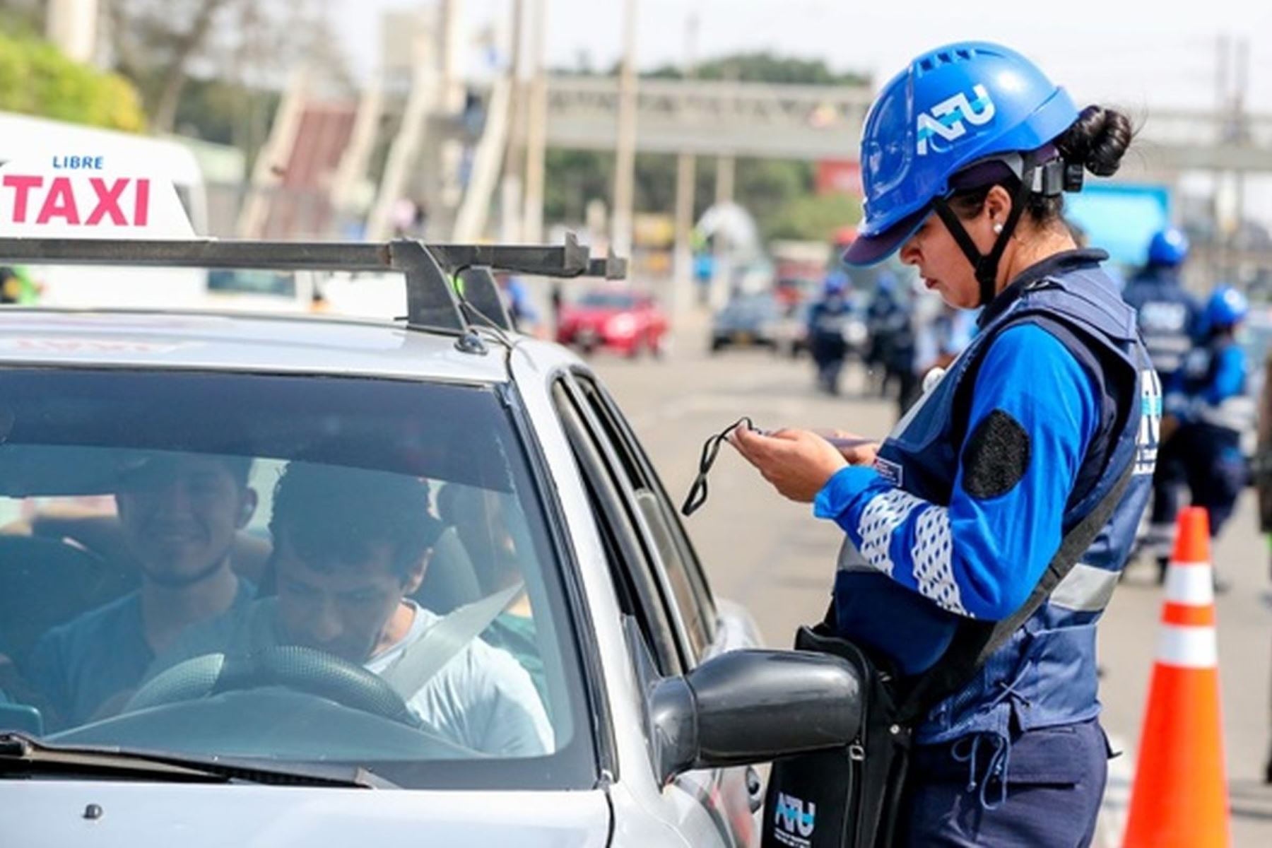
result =
M1090 514L1132 467L1132 477L1095 542L1048 599L995 651L977 676L930 711L915 740L932 744L979 732L1085 721L1099 712L1095 623L1126 564L1149 498L1158 451L1161 385L1138 339L1135 311L1099 268L1107 254L1060 254L1016 280L981 315L979 333L930 385L879 449L875 468L903 491L948 506L968 430L971 392L990 345L1004 331L1034 323L1052 333L1091 375L1100 425L1065 505L1062 531ZM953 544L958 547L958 539ZM887 615L913 638L953 638L958 619L865 564L846 542L836 592L879 592ZM851 633L843 633L851 638Z

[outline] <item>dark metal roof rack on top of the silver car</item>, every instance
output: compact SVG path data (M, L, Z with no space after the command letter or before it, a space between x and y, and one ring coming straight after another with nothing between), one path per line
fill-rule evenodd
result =
M406 277L407 325L460 336L471 334L452 276L485 268L542 277L626 273L626 261L613 254L593 259L567 233L561 245L424 244L398 239L383 243L248 242L220 239L5 239L0 264L127 264L148 267L256 268L268 271L396 271ZM483 315L499 323L506 310L488 273L471 275L473 290L464 296ZM494 300L491 300L494 299ZM480 303L478 303L480 301ZM494 304L499 310L494 310Z

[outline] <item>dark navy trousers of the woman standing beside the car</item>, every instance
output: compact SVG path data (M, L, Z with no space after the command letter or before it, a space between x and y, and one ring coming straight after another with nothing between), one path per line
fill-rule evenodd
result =
M898 845L1091 844L1109 756L1096 720L1013 732L1005 768L1004 758L995 756L1001 740L982 736L976 763L973 741L916 748Z

